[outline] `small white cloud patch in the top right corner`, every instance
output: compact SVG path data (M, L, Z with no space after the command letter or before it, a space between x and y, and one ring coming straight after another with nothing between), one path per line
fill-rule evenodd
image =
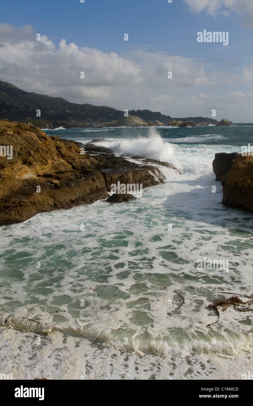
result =
M190 10L195 13L206 11L215 16L217 13L223 13L228 16L229 12L234 11L242 14L244 24L253 28L253 1L252 0L183 0Z

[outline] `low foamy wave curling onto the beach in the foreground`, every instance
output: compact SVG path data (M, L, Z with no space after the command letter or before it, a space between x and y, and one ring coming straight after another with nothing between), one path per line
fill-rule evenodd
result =
M79 326L78 326L79 324ZM74 337L85 337L90 342L101 341L104 346L126 350L139 354L152 354L158 356L178 356L186 357L192 354L215 354L223 357L240 355L249 350L253 343L253 333L240 333L237 337L224 334L221 340L212 344L210 335L205 339L189 339L184 343L179 343L176 337L168 342L161 337L146 337L141 330L131 335L129 339L125 337L125 331L89 328L77 320L76 326L59 326L54 323L41 323L26 317L13 315L0 315L1 328L13 328L23 332L51 333L53 330L65 333ZM211 334L213 335L214 332Z

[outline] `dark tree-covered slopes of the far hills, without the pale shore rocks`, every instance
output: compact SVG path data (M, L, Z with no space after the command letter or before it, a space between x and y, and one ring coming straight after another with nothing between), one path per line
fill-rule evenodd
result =
M41 110L41 117L36 117L37 109ZM168 123L173 118L160 112L151 110L129 110L131 116L140 117L149 123L155 120ZM77 123L108 123L118 121L124 117L122 110L108 106L93 106L92 104L76 104L68 102L62 97L51 97L34 92L26 92L11 83L0 80L0 119L11 121L30 121L33 124L43 127L45 123L56 121L71 121ZM207 117L187 117L187 119L177 119L180 121L190 121L193 123L210 122L218 123L217 120ZM36 123L35 123L36 121Z

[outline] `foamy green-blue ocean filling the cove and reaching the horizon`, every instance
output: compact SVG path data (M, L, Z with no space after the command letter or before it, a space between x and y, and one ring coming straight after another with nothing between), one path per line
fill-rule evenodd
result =
M253 144L253 125L45 132L102 138L98 145L118 156L169 162L182 175L161 167L164 184L135 201L1 226L0 324L15 324L0 328L2 373L241 380L253 372L253 313L229 307L207 327L218 319L217 300L253 297L253 215L222 205L212 171L215 153ZM228 270L201 270L204 258L225 260Z

